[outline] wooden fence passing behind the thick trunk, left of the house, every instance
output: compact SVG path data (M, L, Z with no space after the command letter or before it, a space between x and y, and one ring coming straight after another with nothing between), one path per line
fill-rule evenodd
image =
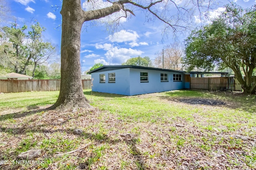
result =
M91 88L91 80L82 80L83 89ZM60 80L0 80L0 92L16 93L60 90Z

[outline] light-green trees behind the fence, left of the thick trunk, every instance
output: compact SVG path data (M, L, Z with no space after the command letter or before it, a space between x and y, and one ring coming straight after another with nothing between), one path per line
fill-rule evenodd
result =
M0 64L9 65L10 70L16 73L26 74L28 66L34 65L32 71L34 77L39 64L58 55L58 48L51 42L44 41L42 32L45 28L39 23L32 23L28 31L26 25L18 27L17 23L2 29Z

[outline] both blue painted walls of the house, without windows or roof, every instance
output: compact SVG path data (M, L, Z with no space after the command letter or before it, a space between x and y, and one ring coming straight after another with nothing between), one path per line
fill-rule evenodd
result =
M115 72L116 82L108 83L108 73ZM140 72L148 72L148 82L140 82ZM168 74L168 82L161 82L161 73ZM100 83L100 74L106 75L106 82ZM182 74L181 82L173 81L173 74ZM94 92L105 92L133 96L155 92L165 92L185 88L185 76L182 72L124 68L119 70L92 73Z

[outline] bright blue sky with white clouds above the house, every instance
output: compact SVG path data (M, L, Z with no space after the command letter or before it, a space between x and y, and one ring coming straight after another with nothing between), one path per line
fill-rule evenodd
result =
M102 0L101 0L102 1ZM105 0L104 0L105 1ZM183 0L175 0L182 3ZM210 16L218 15L225 4L233 0L223 0L219 3L215 12L210 12ZM256 3L256 0L234 0L240 6L247 8ZM11 9L8 22L16 20L20 25L30 24L31 20L37 20L43 27L45 39L59 45L61 43L61 21L60 8L61 0L7 0ZM82 3L86 3L82 0ZM104 3L101 3L104 4ZM85 6L88 9L89 6ZM216 13L217 12L217 13ZM173 33L169 39L162 41L163 23L160 21L147 22L143 12L136 11L135 17L122 19L122 27L114 32L109 32L108 27L102 23L92 25L90 22L84 23L81 34L81 65L82 71L89 70L95 63L104 65L118 65L124 63L131 57L148 56L154 60L155 53L162 50L163 46L173 41ZM202 22L194 16L192 26L200 25ZM103 20L102 20L103 21ZM206 22L206 21L203 21ZM190 26L191 26L190 25ZM189 32L178 34L180 41L184 40Z

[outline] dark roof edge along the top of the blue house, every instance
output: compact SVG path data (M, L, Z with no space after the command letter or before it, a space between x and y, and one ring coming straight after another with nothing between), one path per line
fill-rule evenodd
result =
M96 68L88 73L93 73L96 72L97 70L100 70L102 68L107 68L107 67L122 67L122 68L136 68L136 69L146 69L146 70L160 70L160 71L170 71L170 72L185 72L181 70L170 70L166 68L154 68L154 67L145 67L145 66L132 66L132 65L114 65L114 66L101 66L99 68Z

